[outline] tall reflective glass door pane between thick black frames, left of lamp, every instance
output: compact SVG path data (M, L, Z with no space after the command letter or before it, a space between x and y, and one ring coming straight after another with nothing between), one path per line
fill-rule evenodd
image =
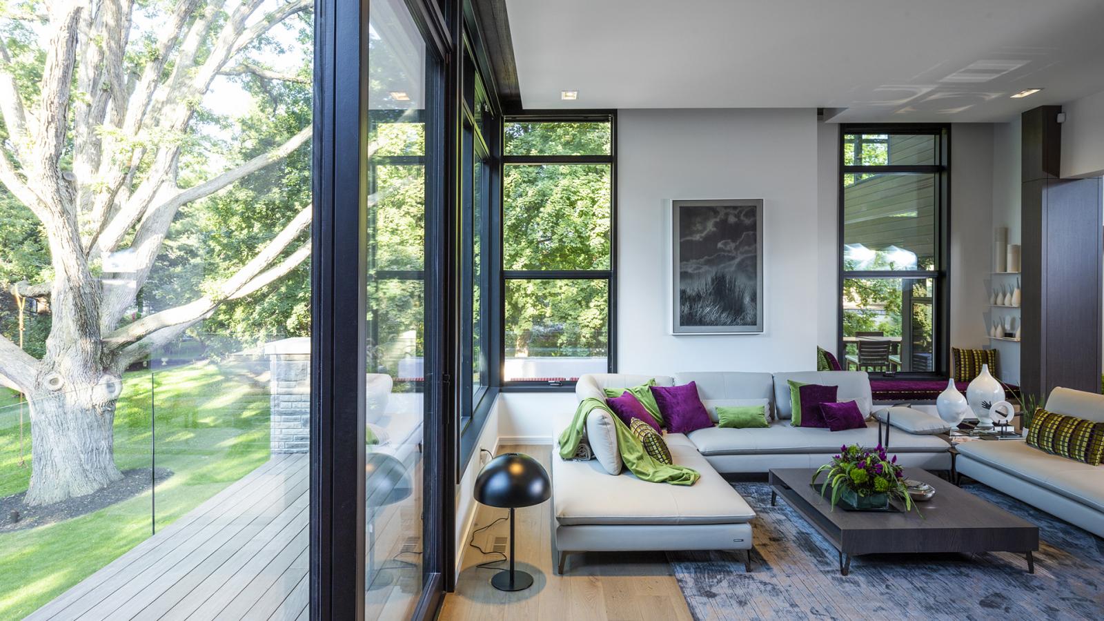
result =
M368 35L364 618L400 619L423 593L427 387L432 352L449 337L426 329L443 73L403 0L373 0Z

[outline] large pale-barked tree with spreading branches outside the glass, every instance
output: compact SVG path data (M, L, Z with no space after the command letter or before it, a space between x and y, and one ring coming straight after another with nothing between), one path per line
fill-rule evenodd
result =
M159 17L153 23L150 8ZM14 287L21 296L49 297L42 356L0 336L0 382L31 406L29 504L120 478L113 423L124 369L309 256L310 206L302 204L289 221L272 222L275 234L194 299L134 315L182 208L309 141L305 123L210 178L182 173L217 76L304 80L251 51L273 27L311 8L310 0L0 2L7 13L0 17L21 21L33 35L0 36L0 183L38 221L49 248L45 277ZM147 23L139 24L142 10Z

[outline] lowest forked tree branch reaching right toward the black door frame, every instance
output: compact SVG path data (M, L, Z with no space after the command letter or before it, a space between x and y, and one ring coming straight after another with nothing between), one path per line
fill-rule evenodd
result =
M309 243L298 249L277 266L270 270L265 269L310 227L310 215L311 207L307 206L256 256L243 265L233 276L223 281L214 293L204 295L183 306L147 315L137 322L108 334L104 338L104 345L108 349L118 349L123 346L136 344L140 339L164 328L171 328L181 324L194 324L203 317L209 316L223 302L244 297L290 272L310 255Z

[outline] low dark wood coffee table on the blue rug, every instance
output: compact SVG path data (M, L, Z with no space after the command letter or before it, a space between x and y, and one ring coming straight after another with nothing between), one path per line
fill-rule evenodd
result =
M925 472L907 469L905 476L935 487L935 497L919 503L924 517L900 512L853 512L821 498L809 483L811 469L772 470L771 505L778 496L789 503L814 528L839 550L839 571L850 572L851 557L900 552L1017 552L1027 556L1028 572L1034 573L1031 552L1039 549L1039 527L992 503ZM824 475L821 475L822 477Z

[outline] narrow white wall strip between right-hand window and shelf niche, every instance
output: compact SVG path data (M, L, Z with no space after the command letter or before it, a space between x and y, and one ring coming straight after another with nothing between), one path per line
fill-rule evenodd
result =
M989 346L992 262L992 126L951 128L951 345Z

